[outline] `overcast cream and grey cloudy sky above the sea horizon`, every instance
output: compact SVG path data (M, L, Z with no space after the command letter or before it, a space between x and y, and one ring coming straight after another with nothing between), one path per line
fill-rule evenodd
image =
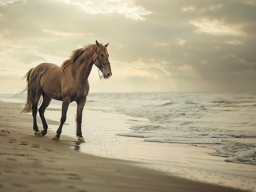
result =
M255 0L0 0L0 94L96 39L113 75L91 93L256 91Z

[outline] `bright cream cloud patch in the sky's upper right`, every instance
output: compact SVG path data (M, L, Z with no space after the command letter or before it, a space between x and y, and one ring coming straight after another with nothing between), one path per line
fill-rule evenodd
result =
M228 26L219 20L201 19L198 21L191 21L190 23L198 27L196 32L205 32L213 35L245 35L244 32L240 31L240 26Z

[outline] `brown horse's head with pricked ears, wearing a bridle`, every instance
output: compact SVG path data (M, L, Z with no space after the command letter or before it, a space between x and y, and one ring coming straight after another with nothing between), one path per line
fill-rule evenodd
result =
M95 65L100 69L100 71L103 73L104 79L109 79L109 77L112 75L111 73L111 67L109 62L109 53L107 53L106 47L109 45L102 45L99 44L96 40L96 55L95 55Z

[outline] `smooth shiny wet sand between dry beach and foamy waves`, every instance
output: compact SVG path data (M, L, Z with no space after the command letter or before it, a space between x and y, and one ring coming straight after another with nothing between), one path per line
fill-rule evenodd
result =
M59 108L60 105L52 107ZM76 125L72 116L75 113L76 107L70 106L67 119L69 125L63 129L63 134L73 138L75 134L72 127ZM46 114L48 118L58 121L60 112L48 111ZM139 166L160 170L171 176L255 191L254 165L225 162L223 157L208 154L215 152L215 149L209 147L146 142L142 138L122 137L116 134L129 130L131 124L134 125L136 122L143 124L145 119L99 110L98 107L87 107L84 116L82 125L86 144L80 145L81 152L138 162ZM57 127L52 130L56 131Z

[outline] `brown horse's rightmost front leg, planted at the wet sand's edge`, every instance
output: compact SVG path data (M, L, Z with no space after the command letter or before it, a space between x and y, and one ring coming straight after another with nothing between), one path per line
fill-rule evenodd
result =
M77 137L80 143L84 143L85 141L82 136L82 113L84 109L84 104L86 102L86 97L76 102L77 102Z

